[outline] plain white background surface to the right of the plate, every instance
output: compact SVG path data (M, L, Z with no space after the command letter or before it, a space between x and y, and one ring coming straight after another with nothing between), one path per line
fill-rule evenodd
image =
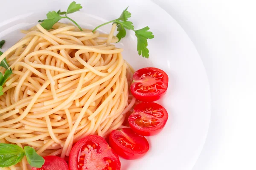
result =
M210 83L209 133L193 170L256 170L256 1L154 2L194 42Z

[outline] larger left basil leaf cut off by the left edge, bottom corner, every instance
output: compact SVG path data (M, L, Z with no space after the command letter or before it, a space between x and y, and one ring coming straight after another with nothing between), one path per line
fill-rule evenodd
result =
M0 143L0 167L9 167L20 162L25 153L16 144Z

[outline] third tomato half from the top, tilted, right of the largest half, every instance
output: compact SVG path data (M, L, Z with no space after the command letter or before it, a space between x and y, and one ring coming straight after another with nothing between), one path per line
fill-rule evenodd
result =
M149 150L147 139L134 133L130 128L113 130L109 136L109 145L124 159L137 159Z

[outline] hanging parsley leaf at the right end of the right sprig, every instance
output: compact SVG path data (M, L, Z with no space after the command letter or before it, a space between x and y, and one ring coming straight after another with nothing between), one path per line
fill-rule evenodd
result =
M147 40L154 38L153 33L148 30L149 30L148 27L144 27L142 29L135 31L135 35L137 37L137 51L139 52L139 55L142 55L142 57L145 57L145 58L149 57Z

